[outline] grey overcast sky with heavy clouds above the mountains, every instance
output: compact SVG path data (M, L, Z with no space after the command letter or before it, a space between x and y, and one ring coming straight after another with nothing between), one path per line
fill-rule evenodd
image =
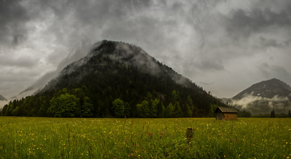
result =
M0 0L0 94L47 83L103 39L140 46L219 98L291 85L290 0Z

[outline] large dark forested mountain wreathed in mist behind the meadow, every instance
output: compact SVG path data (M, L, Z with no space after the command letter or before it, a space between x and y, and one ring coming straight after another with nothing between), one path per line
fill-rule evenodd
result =
M2 116L212 117L221 99L140 47L102 40L36 95L10 101Z

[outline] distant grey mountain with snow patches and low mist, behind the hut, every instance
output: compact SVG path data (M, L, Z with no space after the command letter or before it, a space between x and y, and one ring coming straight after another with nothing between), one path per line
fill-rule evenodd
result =
M288 113L291 109L291 87L273 78L254 84L227 101L252 114L268 114L272 110L275 113Z

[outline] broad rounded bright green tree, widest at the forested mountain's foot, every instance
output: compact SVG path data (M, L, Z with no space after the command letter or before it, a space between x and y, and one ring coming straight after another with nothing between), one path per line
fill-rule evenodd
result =
M48 108L49 116L59 118L79 117L81 115L80 111L79 98L75 95L69 95L69 93L53 97L50 100L50 108Z

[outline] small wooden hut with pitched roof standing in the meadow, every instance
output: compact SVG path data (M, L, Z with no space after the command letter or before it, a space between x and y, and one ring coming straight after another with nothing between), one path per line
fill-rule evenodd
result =
M217 107L216 120L238 120L238 111L235 108Z

